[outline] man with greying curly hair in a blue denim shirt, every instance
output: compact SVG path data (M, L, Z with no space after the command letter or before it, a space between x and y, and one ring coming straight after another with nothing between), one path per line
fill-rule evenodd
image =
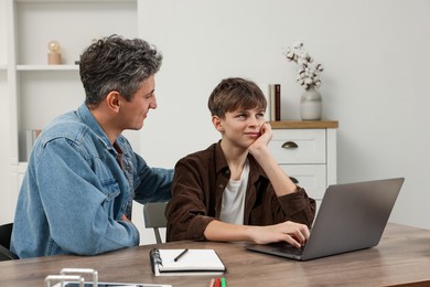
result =
M11 241L20 258L139 244L132 200L169 200L173 171L148 167L121 132L141 129L157 108L161 62L146 41L118 35L83 53L85 103L43 129L29 160Z

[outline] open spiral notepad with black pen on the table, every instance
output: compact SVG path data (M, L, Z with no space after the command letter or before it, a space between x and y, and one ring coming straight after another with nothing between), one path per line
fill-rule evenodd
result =
M155 276L221 275L226 270L214 249L159 249L150 251ZM176 261L175 258L182 254Z

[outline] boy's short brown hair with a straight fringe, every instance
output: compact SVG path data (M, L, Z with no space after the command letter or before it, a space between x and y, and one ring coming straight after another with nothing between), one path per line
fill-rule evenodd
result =
M266 109L267 100L256 83L240 77L223 79L211 93L207 107L212 116L224 118L228 111L238 109Z

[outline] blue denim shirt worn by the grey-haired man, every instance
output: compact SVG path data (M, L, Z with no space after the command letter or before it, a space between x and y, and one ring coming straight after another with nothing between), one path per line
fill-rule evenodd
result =
M120 217L130 219L133 199L168 201L173 170L148 167L123 136L116 145L121 156L85 104L43 129L19 194L12 252L95 255L139 245L136 226Z

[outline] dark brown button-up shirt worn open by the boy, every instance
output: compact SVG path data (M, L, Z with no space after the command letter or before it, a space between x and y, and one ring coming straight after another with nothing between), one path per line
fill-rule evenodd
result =
M278 198L268 177L251 155L245 198L244 224L271 225L284 221L307 224L315 215L315 201L304 189ZM166 208L166 241L202 241L207 224L219 217L223 192L230 171L221 141L182 158L175 166L172 200Z

